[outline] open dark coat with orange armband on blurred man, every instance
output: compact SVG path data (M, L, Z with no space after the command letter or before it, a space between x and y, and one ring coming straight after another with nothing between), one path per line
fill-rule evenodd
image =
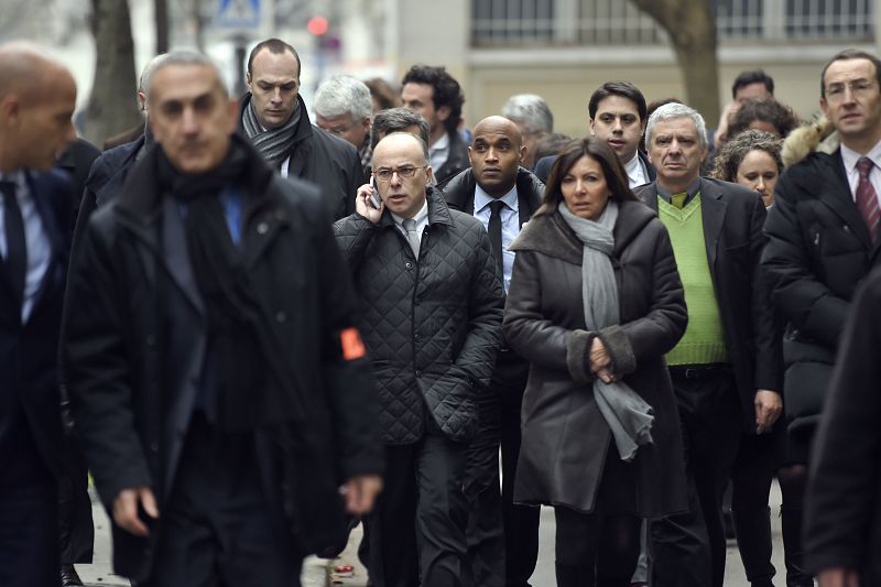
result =
M339 537L339 485L382 470L376 387L366 358L342 355L340 333L356 326L358 304L320 195L272 174L243 148L250 160L240 185L252 196L240 249L304 411L295 447L258 430L255 458L278 530L290 532L280 535L315 552ZM122 489L146 486L163 510L196 401L205 308L181 262L185 235L172 211L176 203L161 194L148 151L112 203L93 214L70 276L72 407L108 507ZM292 468L302 479L293 486ZM113 524L117 572L143 581L161 532L162 518L145 539Z

